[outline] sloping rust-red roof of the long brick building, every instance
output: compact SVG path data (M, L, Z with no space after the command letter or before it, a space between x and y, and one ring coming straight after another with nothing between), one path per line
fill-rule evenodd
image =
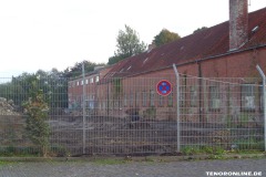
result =
M265 19L266 8L248 14L248 41L236 51L266 44ZM122 60L105 77L130 76L226 53L232 53L228 21Z

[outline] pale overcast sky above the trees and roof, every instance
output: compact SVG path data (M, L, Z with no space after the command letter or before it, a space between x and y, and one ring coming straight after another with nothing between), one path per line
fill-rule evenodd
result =
M250 0L248 11L266 7ZM151 43L228 20L228 0L0 0L0 77L75 62L108 62L124 24Z

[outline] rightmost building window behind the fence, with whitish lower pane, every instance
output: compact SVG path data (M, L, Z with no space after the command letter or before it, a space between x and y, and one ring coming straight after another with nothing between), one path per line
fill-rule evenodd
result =
M254 85L250 84L242 85L241 94L242 94L241 96L242 111L255 111Z

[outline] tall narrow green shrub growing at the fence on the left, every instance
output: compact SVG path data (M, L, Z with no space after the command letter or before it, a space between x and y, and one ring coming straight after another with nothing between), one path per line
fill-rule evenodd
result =
M48 118L48 97L43 91L39 88L39 80L37 76L29 77L30 80L30 97L23 103L27 113L25 131L31 142L41 149L43 157L47 157L49 152L49 124Z

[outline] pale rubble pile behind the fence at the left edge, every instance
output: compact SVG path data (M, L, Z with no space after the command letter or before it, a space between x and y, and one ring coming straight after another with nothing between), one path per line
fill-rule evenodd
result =
M19 113L14 111L13 106L12 100L8 101L4 97L0 97L0 115L19 115Z

